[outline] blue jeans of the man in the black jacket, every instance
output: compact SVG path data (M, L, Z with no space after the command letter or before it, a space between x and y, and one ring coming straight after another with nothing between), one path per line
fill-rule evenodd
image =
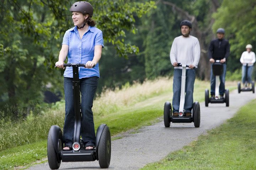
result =
M223 65L223 72L220 75L220 85L219 85L219 94L224 95L225 93L225 77L226 77L226 64ZM211 73L210 73L210 82L211 82L211 95L215 95L215 75L213 74L212 64L211 64Z

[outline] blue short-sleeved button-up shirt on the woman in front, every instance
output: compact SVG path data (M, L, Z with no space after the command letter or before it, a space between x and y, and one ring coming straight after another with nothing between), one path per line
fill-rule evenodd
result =
M94 57L94 46L103 45L102 31L96 27L89 26L88 31L80 39L77 27L67 30L63 37L62 44L69 46L68 63L83 63L92 61ZM100 77L98 63L94 68L88 69L79 67L79 79L86 77ZM64 77L73 78L72 67L66 67Z

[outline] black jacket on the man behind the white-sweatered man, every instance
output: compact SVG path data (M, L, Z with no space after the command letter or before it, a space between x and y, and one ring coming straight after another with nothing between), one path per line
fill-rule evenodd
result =
M229 41L226 39L215 39L210 42L208 49L208 57L213 58L214 60L221 60L226 58L228 60L229 51L230 51Z

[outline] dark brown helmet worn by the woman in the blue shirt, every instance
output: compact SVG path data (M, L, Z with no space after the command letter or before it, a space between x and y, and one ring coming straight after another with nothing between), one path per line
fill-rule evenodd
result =
M83 14L89 13L90 17L92 17L93 7L89 2L78 1L70 7L69 11L82 12Z

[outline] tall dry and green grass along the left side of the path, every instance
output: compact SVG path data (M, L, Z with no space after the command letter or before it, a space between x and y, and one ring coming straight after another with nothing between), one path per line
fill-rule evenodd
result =
M227 82L226 86L231 87L230 90L236 88L234 82ZM194 100L204 101L206 88L209 88L209 82L196 80ZM123 90L106 91L94 101L95 130L101 123L106 123L112 139L118 139L121 132L137 130L159 121L157 118L162 117L164 102L171 101L171 97L172 79L167 78L136 83ZM48 130L54 124L63 127L63 122L64 102L58 102L41 116L30 115L26 121L17 124L0 124L0 169L31 165L46 158ZM22 148L31 152L20 152ZM15 154L10 157L11 153Z

